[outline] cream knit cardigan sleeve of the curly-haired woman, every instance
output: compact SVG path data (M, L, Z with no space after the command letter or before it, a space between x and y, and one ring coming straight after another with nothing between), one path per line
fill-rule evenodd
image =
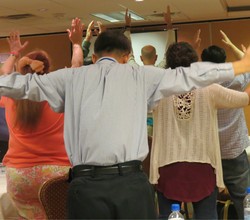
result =
M225 88L219 84L210 86L210 96L215 107L220 108L241 108L249 103L249 96L246 92L239 92Z

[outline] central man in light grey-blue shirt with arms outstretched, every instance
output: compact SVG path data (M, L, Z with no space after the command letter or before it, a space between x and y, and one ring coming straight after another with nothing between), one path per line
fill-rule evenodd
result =
M69 219L156 219L153 189L141 166L148 154L148 108L164 96L250 71L250 48L238 62L173 70L126 64L130 51L123 33L110 30L95 41L93 65L0 77L0 95L48 101L64 112L73 166Z

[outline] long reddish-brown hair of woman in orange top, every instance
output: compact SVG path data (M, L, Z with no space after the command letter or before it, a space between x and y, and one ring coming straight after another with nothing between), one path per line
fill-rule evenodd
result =
M45 51L33 51L26 54L22 59L29 58L31 60L38 60L43 62L43 70L41 72L36 72L38 75L48 73L50 69L50 60L48 54ZM32 65L28 65L25 62L18 64L18 71L23 75L27 73L34 73ZM25 131L32 131L35 129L36 125L40 121L42 113L42 103L33 102L30 100L16 100L16 118L15 126Z

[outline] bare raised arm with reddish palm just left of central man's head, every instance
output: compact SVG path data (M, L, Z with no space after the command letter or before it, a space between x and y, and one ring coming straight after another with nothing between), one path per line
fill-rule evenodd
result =
M71 29L67 29L73 50L71 67L79 67L83 65L83 51L82 51L83 27L84 26L81 20L79 18L75 18L71 22Z

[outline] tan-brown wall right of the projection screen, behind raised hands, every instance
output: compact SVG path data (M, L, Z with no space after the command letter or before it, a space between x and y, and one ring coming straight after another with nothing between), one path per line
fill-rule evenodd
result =
M228 62L235 61L235 57L222 43L219 30L223 30L231 41L239 48L241 44L244 44L245 46L250 45L250 20L183 24L176 25L175 27L178 28L178 41L188 41L190 43L193 42L196 31L201 29L201 46L198 53L200 54L203 48L215 44L226 50ZM246 107L244 110L250 134L250 106Z

